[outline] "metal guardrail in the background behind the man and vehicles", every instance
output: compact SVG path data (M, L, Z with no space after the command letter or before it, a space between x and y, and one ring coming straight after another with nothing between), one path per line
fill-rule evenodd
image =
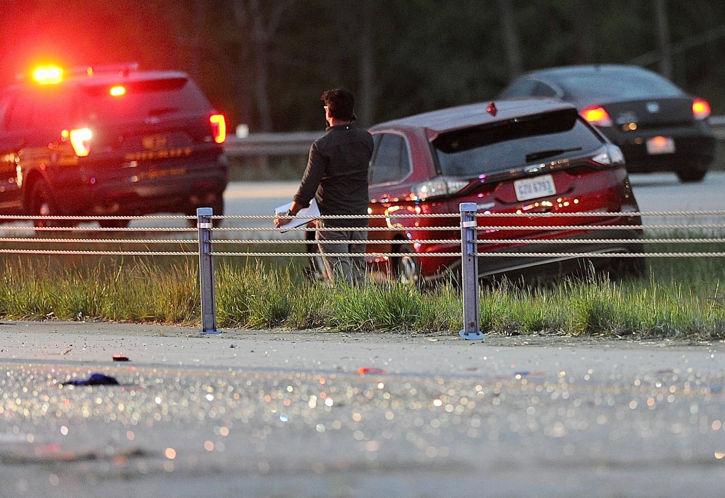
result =
M725 116L711 116L709 123L717 139L725 142ZM325 131L293 131L252 133L243 138L229 136L224 144L224 151L228 157L306 156L312 142L323 134Z

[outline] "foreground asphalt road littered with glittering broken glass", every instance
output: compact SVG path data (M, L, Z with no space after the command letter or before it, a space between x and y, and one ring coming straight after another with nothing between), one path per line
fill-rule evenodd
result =
M0 496L721 497L723 348L5 322Z

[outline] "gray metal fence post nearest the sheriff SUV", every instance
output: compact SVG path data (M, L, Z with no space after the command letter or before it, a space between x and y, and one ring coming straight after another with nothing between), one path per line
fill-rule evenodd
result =
M212 252L212 208L196 209L199 229L199 282L202 291L202 334L218 334L217 303L214 290L214 258Z

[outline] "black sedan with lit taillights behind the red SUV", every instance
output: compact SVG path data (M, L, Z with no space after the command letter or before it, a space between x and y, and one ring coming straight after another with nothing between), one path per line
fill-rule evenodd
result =
M638 66L536 70L516 78L499 97L571 102L621 148L631 173L674 171L681 181L700 181L715 155L708 102Z

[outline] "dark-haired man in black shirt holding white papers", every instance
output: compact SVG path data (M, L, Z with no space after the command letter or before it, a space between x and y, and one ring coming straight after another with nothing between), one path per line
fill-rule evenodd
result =
M320 97L325 104L327 133L310 147L302 183L294 195L288 216L310 205L315 197L320 215L368 214L368 168L373 156L373 136L352 127L355 121L355 97L345 89L328 90ZM275 219L275 226L289 223ZM365 277L365 253L368 219L320 219L316 239L333 282L359 285ZM341 228L349 228L341 230ZM327 242L327 243L322 243ZM349 256L326 256L346 253Z

